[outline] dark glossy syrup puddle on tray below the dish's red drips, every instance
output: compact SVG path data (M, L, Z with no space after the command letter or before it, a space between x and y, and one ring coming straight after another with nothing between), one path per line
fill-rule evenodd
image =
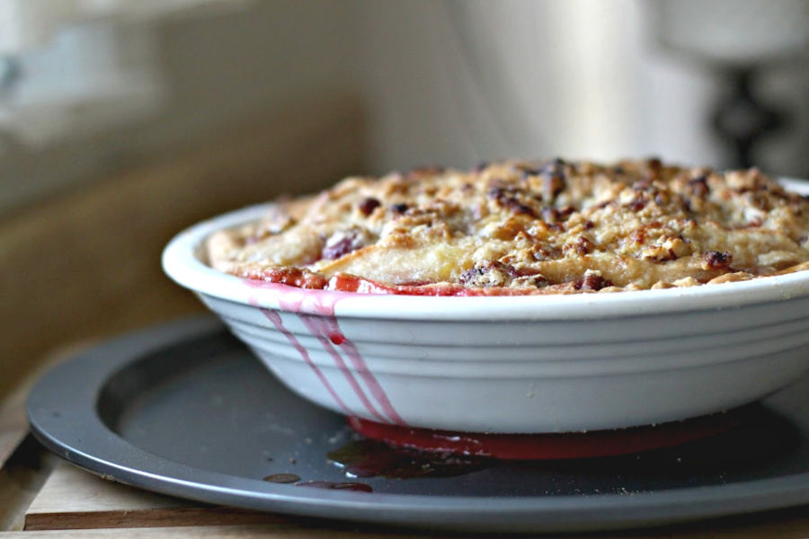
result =
M369 439L352 440L327 456L346 475L358 478L456 477L490 468L496 462L482 456L396 447Z

